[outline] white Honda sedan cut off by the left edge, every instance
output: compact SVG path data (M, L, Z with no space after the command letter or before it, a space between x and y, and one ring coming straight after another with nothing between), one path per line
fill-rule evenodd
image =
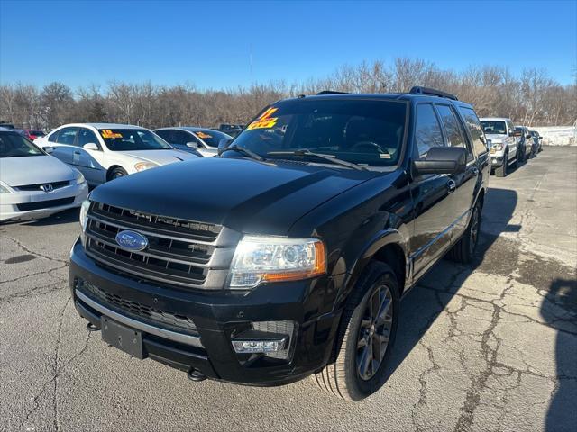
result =
M79 207L87 195L82 173L0 128L0 221L41 219Z

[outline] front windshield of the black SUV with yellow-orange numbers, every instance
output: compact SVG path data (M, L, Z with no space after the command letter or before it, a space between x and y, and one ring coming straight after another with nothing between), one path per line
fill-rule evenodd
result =
M407 105L374 100L286 101L270 106L234 139L261 157L323 163L302 151L336 157L359 166L395 166L405 132ZM292 152L295 155L270 155Z

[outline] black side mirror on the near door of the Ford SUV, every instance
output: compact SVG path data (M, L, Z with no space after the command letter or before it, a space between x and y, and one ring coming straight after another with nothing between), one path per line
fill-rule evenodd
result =
M460 174L467 165L467 150L460 147L429 148L425 159L413 162L413 174Z

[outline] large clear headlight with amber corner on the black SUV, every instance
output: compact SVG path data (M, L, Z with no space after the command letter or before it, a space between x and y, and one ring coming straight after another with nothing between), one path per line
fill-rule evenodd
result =
M229 286L252 288L261 282L296 281L325 272L325 244L318 238L246 236L234 252Z

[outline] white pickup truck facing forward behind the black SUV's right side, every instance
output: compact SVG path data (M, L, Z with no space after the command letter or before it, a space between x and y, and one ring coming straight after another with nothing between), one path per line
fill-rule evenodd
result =
M523 163L523 155L518 151L521 133L515 130L513 121L504 117L479 119L490 141L490 161L492 170L498 177L507 175L508 166L515 162L518 167Z

